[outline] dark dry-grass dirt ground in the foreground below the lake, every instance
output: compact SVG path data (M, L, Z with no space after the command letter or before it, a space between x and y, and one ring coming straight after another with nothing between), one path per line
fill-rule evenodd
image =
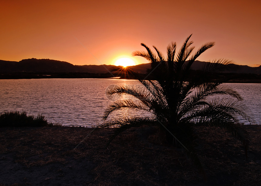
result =
M153 143L151 128L128 130L108 148L111 129L0 128L0 185L260 185L261 126L246 127L248 160L222 130L198 129L207 180L184 150Z

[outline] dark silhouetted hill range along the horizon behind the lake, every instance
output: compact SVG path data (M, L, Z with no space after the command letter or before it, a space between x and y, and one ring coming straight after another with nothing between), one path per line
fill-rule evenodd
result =
M208 62L195 61L192 65L193 70L200 70ZM53 59L23 59L19 62L0 60L0 72L2 73L108 73L114 65L73 65L65 61ZM246 65L229 64L226 66L225 73L253 73L261 74L261 66L250 67ZM129 66L138 73L147 73L150 63Z

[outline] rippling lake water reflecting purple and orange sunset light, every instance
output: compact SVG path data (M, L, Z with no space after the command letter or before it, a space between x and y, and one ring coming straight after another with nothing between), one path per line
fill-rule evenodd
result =
M0 112L42 113L50 122L90 127L102 122L103 112L113 100L126 99L106 95L106 89L114 85L139 83L124 79L0 79ZM224 86L240 93L245 112L261 124L261 84L225 83ZM120 111L114 116L128 114Z

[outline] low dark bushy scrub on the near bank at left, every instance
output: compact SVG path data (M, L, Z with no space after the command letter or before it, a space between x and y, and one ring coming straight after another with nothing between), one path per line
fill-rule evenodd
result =
M45 119L45 116L27 115L25 111L5 111L0 115L0 127L53 127L61 126L59 123L51 123Z

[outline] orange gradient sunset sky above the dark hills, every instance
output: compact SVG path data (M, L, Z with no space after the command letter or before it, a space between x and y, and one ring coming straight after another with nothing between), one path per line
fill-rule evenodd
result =
M214 41L201 61L261 65L260 1L0 0L0 59L56 59L74 65L113 64L144 42L162 52L192 35ZM181 46L181 44L179 45ZM147 63L133 57L136 63Z

